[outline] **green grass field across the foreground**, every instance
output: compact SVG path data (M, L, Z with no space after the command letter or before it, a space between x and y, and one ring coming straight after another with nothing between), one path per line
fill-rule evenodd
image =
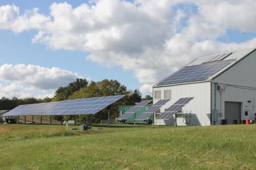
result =
M6 124L0 149L0 169L256 169L256 125Z

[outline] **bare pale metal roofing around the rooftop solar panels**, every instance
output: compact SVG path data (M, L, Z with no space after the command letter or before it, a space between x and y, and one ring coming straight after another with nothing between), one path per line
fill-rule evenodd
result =
M251 52L253 52L254 50L256 50L256 48L250 48L250 49L245 49L245 50L239 50L239 51L232 51L232 54L230 54L229 56L227 56L226 58L224 58L223 60L230 60L230 59L235 59L235 61L231 62L230 64L228 64L226 67L222 68L221 70L217 71L215 74L213 74L212 76L210 76L207 80L212 80L214 77L216 77L217 75L219 75L220 73L222 73L223 71L225 71L227 68L231 67L232 65L234 65L236 62L242 60L242 58L244 58L245 56L247 56L248 54L250 54ZM214 54L216 55L216 54ZM202 64L204 61L208 60L210 57L212 57L213 55L210 56L206 56L206 57L200 57L195 59L194 61L190 62L189 64L185 65L186 66L192 66L192 65L199 65ZM182 67L182 68L184 68ZM173 73L172 73L173 74ZM160 81L161 82L161 81ZM159 83L159 82L158 82ZM157 83L157 84L158 84ZM186 83L186 82L184 82ZM191 82L190 82L191 83ZM166 85L170 85L170 84L165 84L165 85L157 85L155 84L153 87L160 87L160 86L166 86ZM179 83L180 84L180 83ZM183 83L181 83L183 84Z

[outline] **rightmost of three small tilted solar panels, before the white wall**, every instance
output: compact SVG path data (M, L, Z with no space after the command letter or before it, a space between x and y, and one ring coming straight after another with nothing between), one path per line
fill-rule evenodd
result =
M171 105L171 107L166 109L165 112L160 114L156 119L170 119L175 113L177 113L183 106L185 106L192 99L194 99L194 97L180 98L173 105Z

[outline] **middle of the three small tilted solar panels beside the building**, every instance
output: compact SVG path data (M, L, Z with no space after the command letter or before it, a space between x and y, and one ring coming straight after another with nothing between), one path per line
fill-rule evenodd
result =
M170 99L159 100L158 102L153 104L153 106L151 106L149 109L147 109L144 113L142 113L140 116L138 116L134 120L145 120L145 119L147 119L148 117L150 117L150 115L155 113L160 107L162 107L164 104L166 104L169 100Z

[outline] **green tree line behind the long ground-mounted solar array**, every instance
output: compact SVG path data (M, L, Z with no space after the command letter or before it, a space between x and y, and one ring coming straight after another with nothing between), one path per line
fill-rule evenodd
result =
M115 95L125 95L124 98L113 103L110 108L110 118L115 119L118 117L119 106L123 105L135 105L136 102L142 100L152 100L150 95L146 95L145 98L142 98L142 95L139 90L135 89L127 90L125 85L122 85L117 80L108 80L104 79L102 81L91 81L89 83L86 79L76 79L76 81L69 83L65 87L59 87L53 98L25 98L17 99L8 99L2 97L0 99L0 110L11 110L21 104L34 104L34 103L44 103L52 101L62 101L62 100L72 100L72 99L82 99L82 98L92 98L92 97L103 97L103 96L115 96ZM97 114L92 116L92 121L94 123L99 123L101 119L107 119L108 111L103 109ZM61 116L54 116L56 120L61 120ZM74 115L64 116L65 120L72 120ZM78 115L78 122L87 122L89 121L89 115Z

